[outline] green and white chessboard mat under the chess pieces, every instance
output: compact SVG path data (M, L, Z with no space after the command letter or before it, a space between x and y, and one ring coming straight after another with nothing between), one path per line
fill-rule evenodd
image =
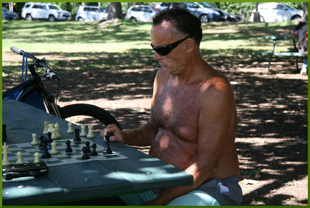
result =
M116 153L113 151L113 148L111 147L113 153L110 155L105 155L102 153L102 150L104 148L98 144L96 147L96 152L98 153L97 156L91 156L89 153L89 159L82 159L83 151L82 148L85 147L85 142L89 141L90 149L91 145L94 143L88 139L81 138L81 141L75 142L73 139L69 139L71 144L70 147L72 148L71 153L66 153L65 150L67 148L66 141L67 140L58 140L55 139L54 142L56 143L56 150L58 151L57 154L51 154L51 158L41 158L41 154L43 153L43 147L38 147L38 145L31 145L30 143L22 143L22 144L9 144L8 148L8 160L15 164L17 161L17 152L22 152L22 159L25 163L30 163L34 161L34 153L39 152L40 153L40 161L46 162L47 166L56 166L56 165L64 165L64 164L71 164L71 163L77 163L77 162L86 162L91 160L118 160L118 159L126 159L128 157ZM47 145L48 152L51 151L51 144Z

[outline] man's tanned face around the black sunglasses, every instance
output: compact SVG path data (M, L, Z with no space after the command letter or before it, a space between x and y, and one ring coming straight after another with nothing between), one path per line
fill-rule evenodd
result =
M182 39L169 33L169 27L169 23L162 23L152 27L151 40L153 47L169 45ZM154 59L158 60L166 73L171 75L177 75L179 73L179 70L183 65L182 51L184 53L184 43L185 42L179 43L179 45L167 55L158 55L157 52L154 51Z

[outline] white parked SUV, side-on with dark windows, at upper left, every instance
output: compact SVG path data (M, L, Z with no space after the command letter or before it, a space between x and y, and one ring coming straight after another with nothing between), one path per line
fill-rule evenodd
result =
M27 2L21 10L21 17L26 20L71 20L71 13L60 9L55 4Z

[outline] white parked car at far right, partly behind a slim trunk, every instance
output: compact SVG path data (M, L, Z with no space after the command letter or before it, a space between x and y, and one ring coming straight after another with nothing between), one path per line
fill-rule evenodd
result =
M250 21L254 21L254 13L256 9L252 10ZM303 16L302 10L297 10L287 4L277 2L269 2L258 5L258 12L261 22L283 22L290 21Z

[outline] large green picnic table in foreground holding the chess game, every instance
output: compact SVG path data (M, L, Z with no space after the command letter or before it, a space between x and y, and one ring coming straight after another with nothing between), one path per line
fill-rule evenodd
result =
M57 140L74 137L67 133L67 121L19 101L2 100L8 150L15 144L31 143L33 133L46 136L42 133L44 121L59 124L61 138ZM73 124L74 128L80 126ZM91 141L104 146L101 135L94 134ZM48 165L49 172L38 178L4 180L2 177L2 205L48 205L193 184L192 175L148 154L119 142L110 143L110 148L128 158ZM31 156L28 161L33 159Z

